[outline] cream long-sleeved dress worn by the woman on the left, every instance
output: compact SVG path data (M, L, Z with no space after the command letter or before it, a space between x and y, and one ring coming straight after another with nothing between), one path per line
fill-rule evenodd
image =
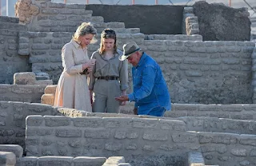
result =
M92 112L87 76L82 73L82 64L89 61L87 49L82 49L74 40L62 48L64 67L54 98L54 106Z

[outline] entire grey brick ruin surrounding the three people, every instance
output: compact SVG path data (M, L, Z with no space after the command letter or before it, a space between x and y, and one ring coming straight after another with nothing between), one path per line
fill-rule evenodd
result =
M182 34L142 34L82 4L19 0L15 9L18 18L0 17L0 165L256 165L256 49L245 9L183 6ZM98 34L110 27L120 49L136 41L154 57L172 110L150 117L133 115L132 103L118 114L53 107L60 50L81 22Z

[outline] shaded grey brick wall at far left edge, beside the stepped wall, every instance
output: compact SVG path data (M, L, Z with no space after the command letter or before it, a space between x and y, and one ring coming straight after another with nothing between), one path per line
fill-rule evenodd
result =
M31 70L28 56L18 55L18 33L26 30L18 18L0 16L0 84L12 84L14 73Z

